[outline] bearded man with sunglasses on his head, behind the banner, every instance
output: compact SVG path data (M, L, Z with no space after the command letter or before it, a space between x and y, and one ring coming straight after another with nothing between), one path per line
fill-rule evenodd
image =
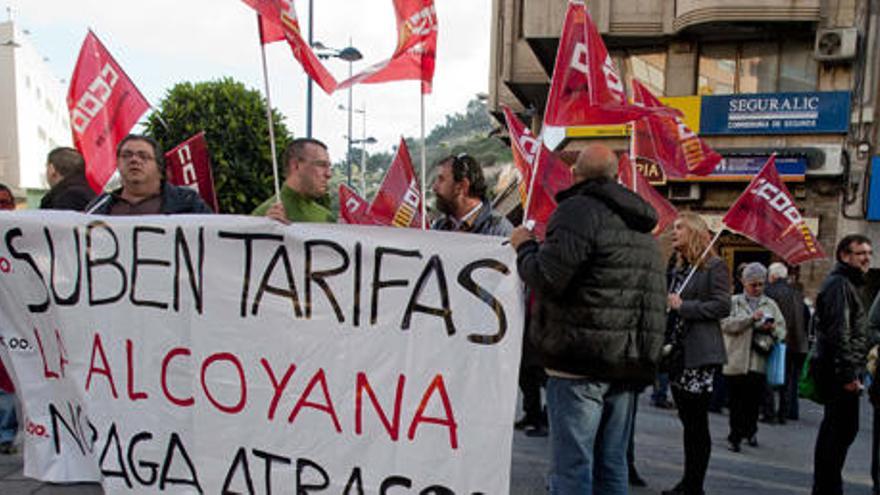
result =
M444 216L431 225L433 230L473 232L508 236L513 225L492 209L486 199L483 169L470 155L462 153L437 162L437 177L431 185L437 209Z

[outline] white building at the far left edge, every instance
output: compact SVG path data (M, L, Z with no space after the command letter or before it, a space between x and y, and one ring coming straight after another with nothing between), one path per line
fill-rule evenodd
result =
M71 146L66 91L26 34L0 23L0 182L32 206L47 189L46 155Z

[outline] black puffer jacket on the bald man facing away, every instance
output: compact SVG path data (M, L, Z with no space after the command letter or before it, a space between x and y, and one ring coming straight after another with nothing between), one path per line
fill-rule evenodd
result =
M538 304L530 338L545 367L600 381L653 381L666 321L653 208L610 180L562 191L542 245L518 250Z

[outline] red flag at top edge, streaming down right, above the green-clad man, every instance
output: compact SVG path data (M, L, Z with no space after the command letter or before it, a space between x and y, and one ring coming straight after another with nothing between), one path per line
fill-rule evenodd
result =
M330 94L336 89L336 79L324 68L315 52L302 38L299 28L299 19L293 0L242 0L257 11L263 18L260 21L260 42L268 43L277 38L277 29L280 27L284 33L293 56L302 65L303 70L314 80L325 93ZM275 25L276 27L267 27ZM268 32L265 32L268 31Z

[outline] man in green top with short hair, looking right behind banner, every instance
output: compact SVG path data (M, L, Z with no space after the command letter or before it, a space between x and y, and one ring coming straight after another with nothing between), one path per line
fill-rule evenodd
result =
M284 150L281 161L287 178L281 187L281 202L273 196L251 214L267 216L281 223L335 223L330 207L328 182L333 176L327 145L312 138L294 139Z

